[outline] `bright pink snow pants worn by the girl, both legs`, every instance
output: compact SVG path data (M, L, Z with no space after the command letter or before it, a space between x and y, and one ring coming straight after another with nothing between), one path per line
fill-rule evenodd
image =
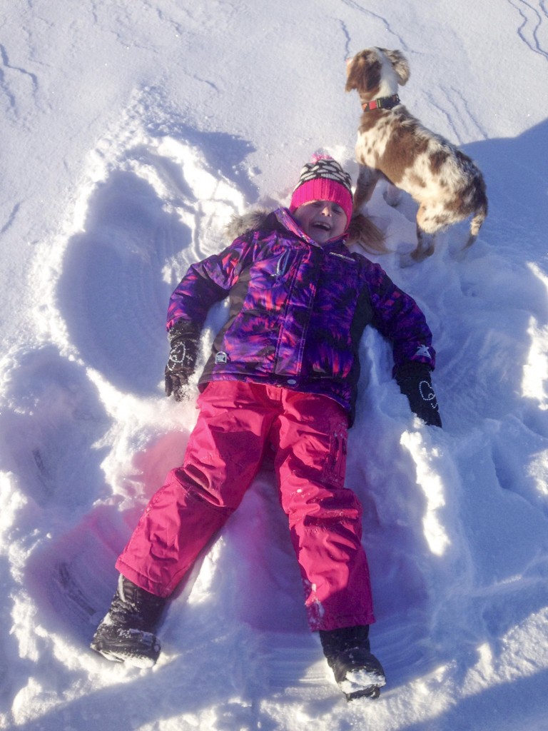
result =
M183 465L153 495L118 571L170 596L236 510L272 444L311 629L372 624L362 508L343 487L343 408L327 396L239 381L210 382L198 404Z

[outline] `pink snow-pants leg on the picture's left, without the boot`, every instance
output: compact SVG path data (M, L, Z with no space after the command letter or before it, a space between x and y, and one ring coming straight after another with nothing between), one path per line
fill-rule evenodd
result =
M264 390L212 382L200 395L183 465L152 497L116 564L140 588L170 596L240 504L275 418Z

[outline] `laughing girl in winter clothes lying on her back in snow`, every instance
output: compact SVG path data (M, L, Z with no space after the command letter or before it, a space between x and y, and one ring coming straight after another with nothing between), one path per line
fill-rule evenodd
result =
M335 160L302 169L289 210L265 214L227 249L192 265L167 317L166 393L187 395L205 317L229 297L229 319L199 379L199 417L183 465L170 471L118 558L112 605L91 647L146 667L169 597L275 450L281 505L305 607L347 699L386 682L370 653L375 621L362 509L344 487L357 349L366 325L392 341L394 376L411 409L441 426L425 317L380 266L345 246L351 178ZM259 216L260 217L260 216Z

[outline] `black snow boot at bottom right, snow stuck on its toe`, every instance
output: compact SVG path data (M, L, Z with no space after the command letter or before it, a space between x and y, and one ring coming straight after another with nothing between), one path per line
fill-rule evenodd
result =
M346 700L378 698L387 679L381 663L371 654L369 626L321 629L319 636L327 663Z

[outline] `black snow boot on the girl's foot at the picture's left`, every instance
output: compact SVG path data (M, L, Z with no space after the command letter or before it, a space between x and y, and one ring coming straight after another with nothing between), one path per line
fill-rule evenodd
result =
M166 602L120 575L113 602L97 627L91 649L107 660L152 667L160 654L154 631Z

